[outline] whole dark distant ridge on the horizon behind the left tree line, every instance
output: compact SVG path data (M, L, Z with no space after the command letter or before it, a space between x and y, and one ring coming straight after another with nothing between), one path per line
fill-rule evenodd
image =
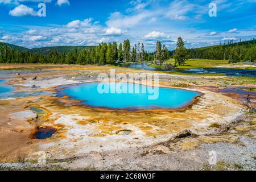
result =
M63 53L63 52L68 53L69 50L73 52L75 48L77 48L77 51L80 52L81 49L91 49L96 47L96 46L53 46L53 47L40 47L40 48L28 49L26 47L15 46L13 44L0 42L0 51L2 51L3 48L5 48L5 46L18 51L30 51L31 53L43 53L44 55L48 55L50 52L53 52L55 50L57 50L59 53Z

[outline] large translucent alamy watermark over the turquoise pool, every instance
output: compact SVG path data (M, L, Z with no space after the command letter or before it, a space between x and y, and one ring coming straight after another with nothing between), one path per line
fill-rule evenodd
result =
M97 80L100 94L148 94L148 100L159 97L159 77L156 74L115 74L115 69L110 69L110 76L101 73Z

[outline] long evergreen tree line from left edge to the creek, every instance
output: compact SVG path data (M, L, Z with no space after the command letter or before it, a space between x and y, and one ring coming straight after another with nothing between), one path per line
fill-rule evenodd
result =
M167 50L167 49L164 49ZM167 51L168 52L168 51ZM57 50L48 55L43 53L31 53L30 51L18 51L5 46L0 50L0 63L40 63L40 64L115 64L127 61L152 61L154 53L147 52L143 43L135 44L131 49L130 40L117 45L113 43L101 43L95 48L75 48L67 53L59 53Z

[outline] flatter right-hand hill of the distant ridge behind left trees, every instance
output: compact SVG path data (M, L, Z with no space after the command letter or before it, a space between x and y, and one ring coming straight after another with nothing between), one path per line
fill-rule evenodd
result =
M31 53L43 53L43 55L48 55L49 53L57 50L59 53L68 53L68 51L73 52L76 48L78 52L82 49L91 49L96 46L55 46L55 47L41 47L41 48L32 48L30 49Z

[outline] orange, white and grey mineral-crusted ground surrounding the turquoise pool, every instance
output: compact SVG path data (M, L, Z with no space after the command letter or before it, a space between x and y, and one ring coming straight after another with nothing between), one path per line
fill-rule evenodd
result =
M96 81L98 73L109 73L113 67L11 67L1 66L42 69L19 75L5 72L15 92L51 94L0 100L1 169L255 170L255 114L243 105L250 92L250 106L255 107L255 78L155 72L160 86L203 95L181 110L118 111L56 97L57 86ZM35 139L38 127L53 127L56 133ZM38 164L40 151L46 154L46 165ZM214 165L208 162L211 151L217 154Z

